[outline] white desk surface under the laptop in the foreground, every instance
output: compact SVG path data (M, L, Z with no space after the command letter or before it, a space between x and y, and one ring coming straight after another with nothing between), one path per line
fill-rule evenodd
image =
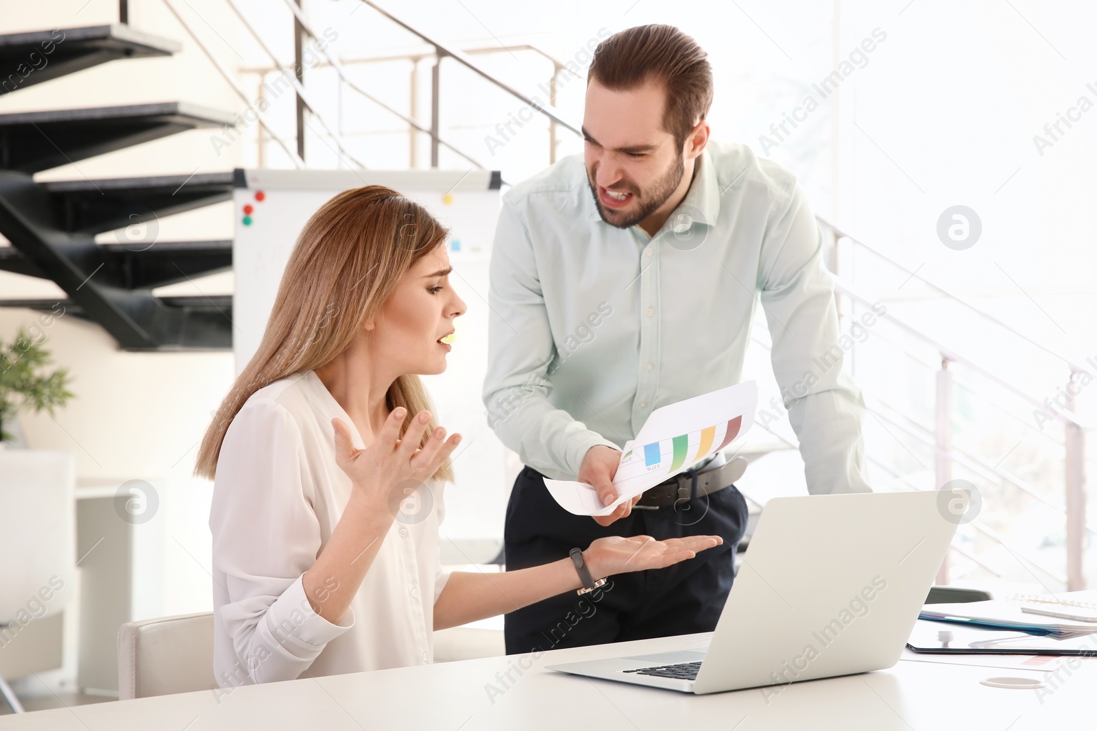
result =
M543 670L554 662L703 646L708 635L547 652L489 699L523 655L247 686L218 699L213 692L122 700L2 717L3 729L568 729L671 731L842 729L844 731L1025 731L1093 728L1097 661L1079 660L1058 689L1009 690L980 685L994 675L1043 677L1041 671L996 670L901 661L887 671L787 686L769 704L759 689L691 696L588 681ZM1065 661L1067 659L1060 659ZM525 659L529 664L528 659ZM1059 662L1059 661L1056 661ZM1048 665L1045 667L1051 667ZM501 687L501 686L499 686Z

